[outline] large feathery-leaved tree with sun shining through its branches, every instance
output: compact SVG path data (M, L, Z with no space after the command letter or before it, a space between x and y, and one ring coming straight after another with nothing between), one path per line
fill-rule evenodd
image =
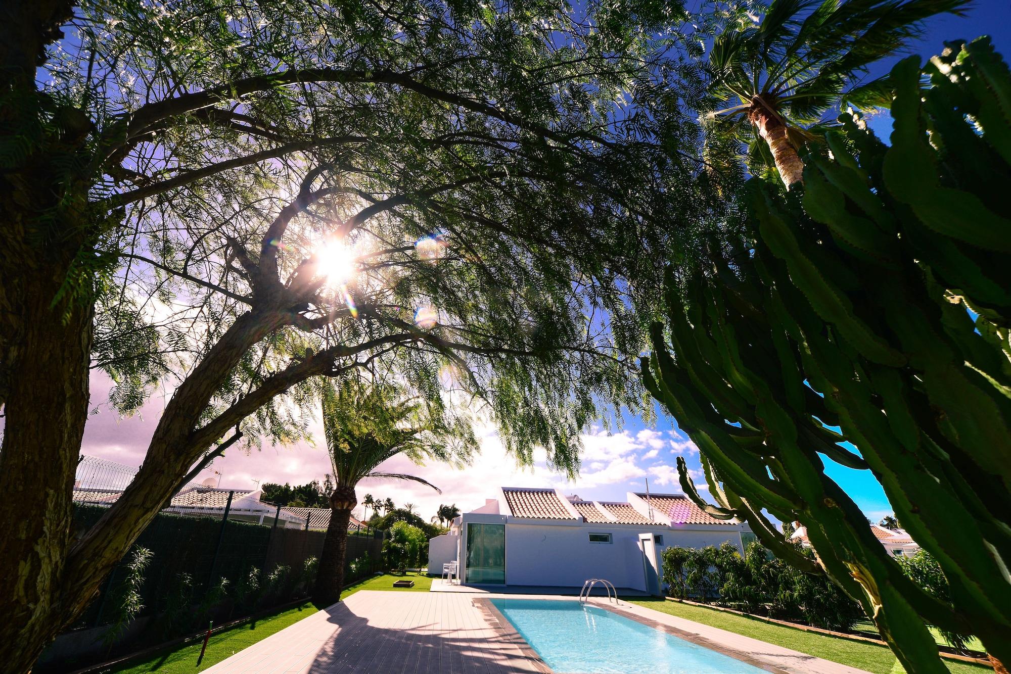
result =
M571 470L598 405L636 404L636 326L587 316L624 310L618 276L653 235L628 189L653 151L613 114L652 96L651 57L617 14L582 18L18 4L0 40L6 667L30 668L232 429L304 436L315 377L399 359L435 395L443 369L521 461L544 446ZM92 368L117 412L171 395L131 485L74 540Z

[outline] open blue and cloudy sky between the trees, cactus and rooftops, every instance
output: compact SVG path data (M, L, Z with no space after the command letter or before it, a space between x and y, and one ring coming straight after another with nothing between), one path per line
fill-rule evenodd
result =
M871 76L888 72L891 66L909 54L924 59L937 54L944 40L973 39L990 34L998 52L1011 56L1011 0L979 0L966 18L936 17L929 21L921 40L905 54L883 63ZM868 119L870 127L887 140L891 133L891 118L887 112ZM84 453L111 461L136 466L144 460L154 426L161 415L164 400L153 399L142 412L127 419L102 410L100 401L110 382L94 374L93 404L104 413L93 415L84 438ZM390 472L409 472L422 476L443 490L438 494L416 483L377 481L364 484L359 498L366 492L390 497L398 504L415 503L425 517L435 513L439 503L456 503L464 510L477 507L484 498L494 496L497 486L558 486L583 498L623 500L628 491L643 491L648 479L653 493L677 492L675 459L683 456L690 469L699 475L698 451L681 435L672 419L657 410L656 423L646 424L638 416L626 416L623 427L614 435L602 428L591 428L582 438L585 451L578 479L567 482L562 476L547 470L543 460L529 469L516 466L509 457L495 429L485 426L480 434L481 454L464 470L448 466L412 466L403 459L393 459L384 468ZM321 438L321 434L316 434ZM828 462L827 472L849 493L867 516L875 520L892 511L881 486L867 471L854 471ZM214 474L216 470L220 475ZM226 456L200 476L220 478L220 486L253 489L260 482L290 482L301 484L321 479L329 470L329 459L321 447L299 444L290 448L264 447L246 453L229 451ZM700 479L697 484L704 485ZM702 493L705 493L703 491Z

